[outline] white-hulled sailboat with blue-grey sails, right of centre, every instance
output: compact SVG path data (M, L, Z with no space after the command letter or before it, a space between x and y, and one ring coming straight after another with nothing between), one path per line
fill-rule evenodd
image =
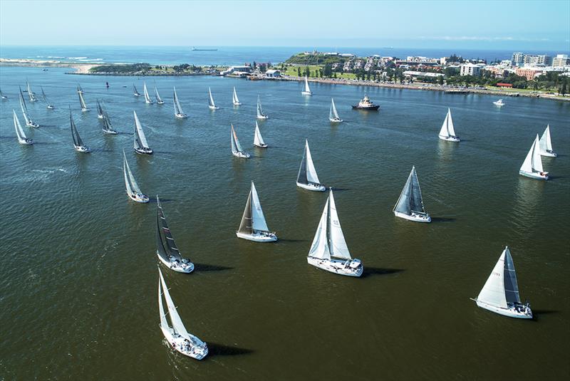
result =
M400 198L396 202L394 215L403 219L409 219L416 222L431 222L432 218L425 212L422 201L422 191L418 174L415 173L415 167L412 167L408 181L405 182L404 189L400 193Z

